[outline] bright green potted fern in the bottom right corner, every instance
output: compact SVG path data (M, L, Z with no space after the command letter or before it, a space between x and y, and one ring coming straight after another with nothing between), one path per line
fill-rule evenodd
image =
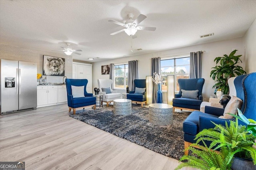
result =
M230 121L230 125L227 122L225 126L215 123L214 125L214 128L204 129L198 133L197 143L208 140L211 142L209 148L213 150L220 149L220 152L224 152L226 148L229 148L231 152L238 151L234 154L232 169L244 170L247 167L247 170L250 170L250 167L251 170L255 170L256 150L252 145L255 144L256 138L248 133L246 126L238 125L238 119ZM244 166L242 166L243 164Z

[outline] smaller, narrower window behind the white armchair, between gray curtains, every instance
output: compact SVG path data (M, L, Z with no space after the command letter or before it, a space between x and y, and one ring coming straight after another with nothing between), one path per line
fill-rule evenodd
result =
M128 85L128 64L114 65L114 89L125 89Z

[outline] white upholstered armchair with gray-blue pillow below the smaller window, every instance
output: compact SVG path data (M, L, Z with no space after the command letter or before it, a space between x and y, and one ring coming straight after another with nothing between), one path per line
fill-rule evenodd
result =
M107 103L112 102L115 99L121 99L121 93L116 90L111 89L113 81L111 79L98 79L98 88L100 89L100 94L102 94L102 101Z

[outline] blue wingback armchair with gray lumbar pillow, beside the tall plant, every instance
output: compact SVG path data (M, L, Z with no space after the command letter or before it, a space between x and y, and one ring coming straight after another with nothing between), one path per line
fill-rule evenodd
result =
M172 99L173 112L175 108L200 110L204 79L178 79L180 91Z

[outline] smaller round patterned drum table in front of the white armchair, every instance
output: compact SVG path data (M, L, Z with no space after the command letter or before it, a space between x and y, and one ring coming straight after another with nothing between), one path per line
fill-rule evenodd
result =
M132 113L132 100L115 99L113 101L113 112L116 115L130 115Z

